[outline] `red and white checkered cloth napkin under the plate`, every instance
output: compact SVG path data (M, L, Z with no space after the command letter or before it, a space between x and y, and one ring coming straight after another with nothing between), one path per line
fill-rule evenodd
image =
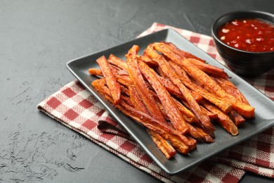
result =
M167 27L169 26L154 23L141 36ZM211 37L187 30L174 29L221 61L221 58L216 54ZM257 80L259 79L250 82L258 87ZM272 99L274 96L273 80L273 75L263 75L260 78L260 81L263 81L263 87L259 87ZM274 129L244 141L219 156L210 158L210 160L178 175L170 176L151 160L145 151L111 118L102 104L78 81L66 84L58 92L39 103L38 108L51 118L83 134L107 151L115 153L131 165L148 172L163 182L237 182L245 171L274 177Z

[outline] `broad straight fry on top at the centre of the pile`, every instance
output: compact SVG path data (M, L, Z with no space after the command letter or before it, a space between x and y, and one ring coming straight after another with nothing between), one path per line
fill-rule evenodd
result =
M159 97L159 100L162 102L164 110L169 116L169 120L171 120L175 129L182 134L188 132L188 125L183 119L181 112L178 110L169 92L167 92L167 89L165 89L165 87L155 75L155 71L151 70L143 61L138 61L138 65L142 74L145 76L148 82L150 82L152 88L155 90L157 96Z

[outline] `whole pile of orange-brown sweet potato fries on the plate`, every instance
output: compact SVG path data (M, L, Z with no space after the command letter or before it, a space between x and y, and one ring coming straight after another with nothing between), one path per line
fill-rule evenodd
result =
M90 68L100 94L141 123L167 158L188 154L197 141L214 142L214 123L233 136L254 108L222 69L169 42L155 42L138 55L133 45L126 61L113 54Z

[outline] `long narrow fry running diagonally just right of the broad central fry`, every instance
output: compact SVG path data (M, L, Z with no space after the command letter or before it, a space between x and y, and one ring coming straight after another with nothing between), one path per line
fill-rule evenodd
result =
M153 61L156 61L159 64L159 67L164 74L169 77L169 80L171 80L171 82L173 82L180 89L185 100L188 101L190 108L195 114L195 117L202 123L204 130L213 136L215 127L211 124L209 117L201 111L199 104L195 101L189 90L183 85L178 75L176 75L176 72L172 72L172 68L169 63L154 49L152 49L151 46L148 46L147 49L145 49L145 53L150 56Z

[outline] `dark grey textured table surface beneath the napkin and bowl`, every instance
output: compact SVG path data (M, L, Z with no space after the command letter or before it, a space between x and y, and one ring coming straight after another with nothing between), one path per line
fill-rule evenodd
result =
M210 35L229 11L273 1L0 1L0 182L159 182L40 113L74 80L67 61L129 41L152 23ZM247 173L241 182L271 182Z

